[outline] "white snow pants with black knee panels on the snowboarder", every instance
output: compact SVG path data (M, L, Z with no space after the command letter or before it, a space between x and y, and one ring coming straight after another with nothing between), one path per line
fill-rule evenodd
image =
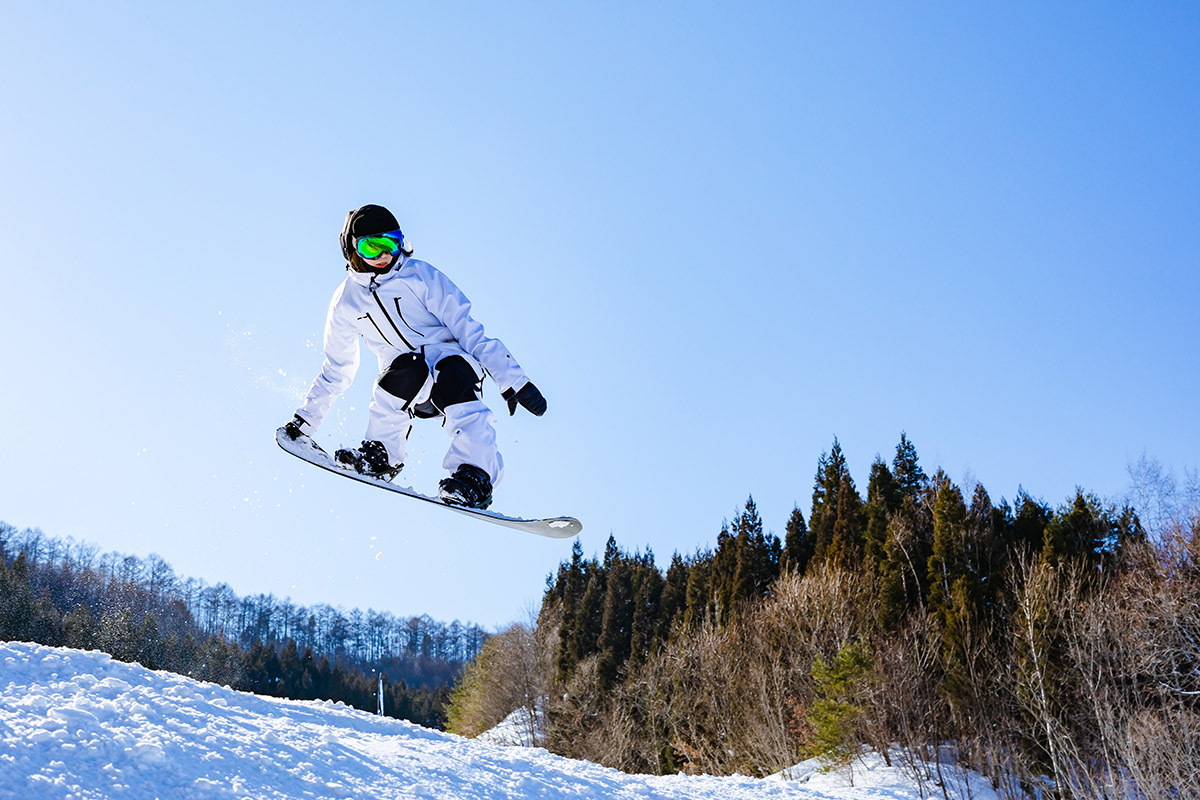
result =
M404 401L377 383L367 409L367 441L379 441L394 464L404 462L408 434L413 427L410 409L430 397L436 374L430 378L415 401ZM496 444L496 417L482 401L455 403L443 410L444 427L450 434L450 450L442 467L454 473L461 464L479 467L492 479L492 487L504 476L504 458Z

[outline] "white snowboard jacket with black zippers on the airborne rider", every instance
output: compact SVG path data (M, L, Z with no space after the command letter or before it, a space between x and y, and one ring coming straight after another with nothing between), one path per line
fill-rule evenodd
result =
M334 401L354 381L359 336L378 356L380 372L397 356L419 350L431 373L442 359L463 355L502 392L528 381L504 343L488 338L472 319L470 301L450 278L426 261L401 255L379 276L352 271L334 291L325 317L325 362L296 410L307 422L306 433L320 427Z

